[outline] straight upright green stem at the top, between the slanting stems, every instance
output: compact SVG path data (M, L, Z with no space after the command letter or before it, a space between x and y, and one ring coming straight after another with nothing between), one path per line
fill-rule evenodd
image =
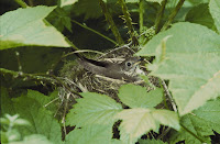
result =
M143 32L144 26L144 0L139 2L139 24L140 24L140 34Z

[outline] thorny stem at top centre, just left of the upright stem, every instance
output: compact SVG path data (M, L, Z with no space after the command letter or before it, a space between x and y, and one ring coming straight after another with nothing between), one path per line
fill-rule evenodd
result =
M131 21L132 19L130 18L130 13L129 13L129 10L127 8L127 4L125 4L124 0L119 0L119 3L121 5L122 12L124 14L127 26L129 29L129 34L130 34L130 37L132 38L132 44L139 45L139 41L135 36L134 27L133 27L132 21Z

